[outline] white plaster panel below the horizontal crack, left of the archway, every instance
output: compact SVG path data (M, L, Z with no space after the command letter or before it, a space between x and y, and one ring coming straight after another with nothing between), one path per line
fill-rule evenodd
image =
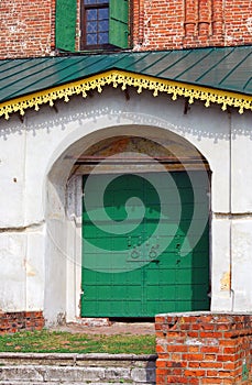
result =
M43 228L0 232L0 309L43 309L44 249Z

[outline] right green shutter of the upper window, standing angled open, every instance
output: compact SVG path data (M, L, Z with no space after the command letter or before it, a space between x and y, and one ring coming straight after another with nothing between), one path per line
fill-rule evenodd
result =
M128 48L129 1L110 0L109 2L109 43L120 48Z

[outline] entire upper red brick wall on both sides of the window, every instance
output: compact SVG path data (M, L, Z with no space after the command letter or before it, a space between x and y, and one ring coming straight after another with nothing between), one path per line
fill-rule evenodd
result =
M131 9L135 51L252 44L251 0L132 0ZM0 58L50 55L54 34L55 0L0 1Z

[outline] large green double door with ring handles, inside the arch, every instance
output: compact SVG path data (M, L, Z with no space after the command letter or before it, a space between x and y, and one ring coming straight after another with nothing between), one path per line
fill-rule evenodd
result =
M209 309L208 178L166 176L84 177L83 317Z

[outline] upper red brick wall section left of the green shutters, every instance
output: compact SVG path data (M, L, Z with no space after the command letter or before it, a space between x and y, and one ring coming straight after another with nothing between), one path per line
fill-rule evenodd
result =
M54 50L54 1L0 1L0 58L44 56Z

